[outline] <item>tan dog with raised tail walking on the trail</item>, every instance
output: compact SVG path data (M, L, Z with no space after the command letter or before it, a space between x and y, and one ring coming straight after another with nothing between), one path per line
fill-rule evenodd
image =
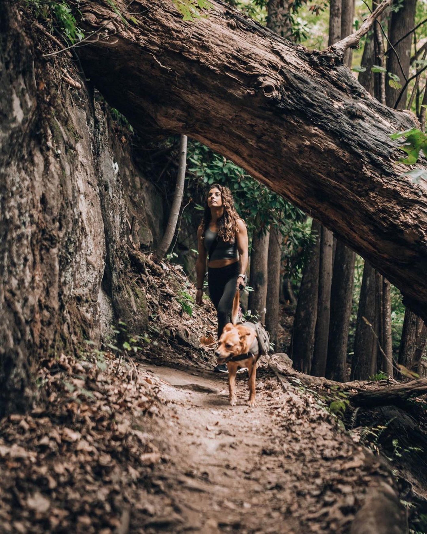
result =
M258 360L257 355L250 352L252 347L256 345L255 328L249 328L244 325L236 325L238 310L240 303L239 292L233 301L232 320L233 323L228 323L224 326L223 333L218 341L218 348L215 351L215 356L218 358L218 364L227 364L228 369L228 391L230 392L230 404L236 405L236 373L239 367L247 367L249 373L249 406L255 406L255 380L256 367ZM253 350L253 349L252 349ZM243 357L242 357L243 356ZM247 356L246 358L244 356Z

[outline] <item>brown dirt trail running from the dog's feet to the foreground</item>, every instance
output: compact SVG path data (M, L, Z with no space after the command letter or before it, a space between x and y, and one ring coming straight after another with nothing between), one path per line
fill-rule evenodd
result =
M231 407L225 374L140 370L168 402L165 427L152 429L167 461L153 470L144 532L349 531L381 469L310 392L261 370L250 409L245 373Z

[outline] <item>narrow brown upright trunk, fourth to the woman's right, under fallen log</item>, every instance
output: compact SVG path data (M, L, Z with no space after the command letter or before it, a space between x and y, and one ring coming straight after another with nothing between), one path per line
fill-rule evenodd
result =
M334 235L322 227L319 258L319 297L311 374L325 376L328 355L332 250Z

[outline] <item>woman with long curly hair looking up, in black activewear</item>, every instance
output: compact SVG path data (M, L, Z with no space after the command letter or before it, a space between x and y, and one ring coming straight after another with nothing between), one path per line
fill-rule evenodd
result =
M219 184L211 186L203 219L197 229L197 249L196 304L202 304L203 279L208 262L209 295L217 310L219 339L224 326L231 322L236 290L246 285L248 266L246 224L234 208L228 187ZM217 366L215 370L227 372L227 367Z

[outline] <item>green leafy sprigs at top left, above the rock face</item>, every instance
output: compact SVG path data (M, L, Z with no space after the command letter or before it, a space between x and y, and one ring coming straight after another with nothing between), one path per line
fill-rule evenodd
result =
M84 38L84 33L77 26L76 19L68 2L64 0L54 2L50 0L24 0L25 5L32 9L37 18L48 21L53 31L58 31L69 41L74 44Z

